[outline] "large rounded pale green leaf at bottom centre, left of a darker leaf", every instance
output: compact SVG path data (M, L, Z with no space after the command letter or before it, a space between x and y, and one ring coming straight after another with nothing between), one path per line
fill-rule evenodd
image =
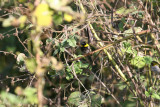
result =
M81 93L79 91L75 91L70 94L68 98L68 104L79 106L81 102Z

